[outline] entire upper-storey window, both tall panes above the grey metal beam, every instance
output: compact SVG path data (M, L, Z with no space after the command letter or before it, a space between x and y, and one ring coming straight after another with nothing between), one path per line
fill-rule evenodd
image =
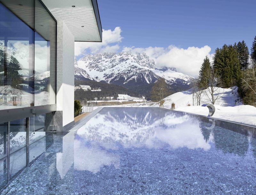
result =
M55 20L38 0L0 2L0 109L55 104Z

